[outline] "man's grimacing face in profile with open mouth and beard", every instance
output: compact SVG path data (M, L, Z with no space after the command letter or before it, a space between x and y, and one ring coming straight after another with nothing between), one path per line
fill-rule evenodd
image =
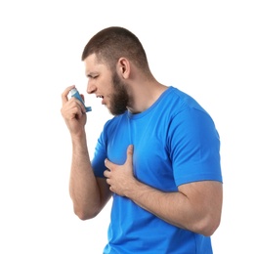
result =
M87 93L96 94L102 99L113 115L124 113L129 105L127 85L121 80L117 72L110 71L106 64L98 63L94 55L85 60L86 75L88 77Z

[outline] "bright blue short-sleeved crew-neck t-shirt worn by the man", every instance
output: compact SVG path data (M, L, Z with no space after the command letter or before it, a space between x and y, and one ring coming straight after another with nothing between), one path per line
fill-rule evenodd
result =
M160 191L204 180L222 182L220 140L210 115L189 95L169 87L147 110L108 120L92 166L104 177L104 160L126 160L134 145L135 177ZM127 197L113 193L104 253L210 254L210 237L170 225Z

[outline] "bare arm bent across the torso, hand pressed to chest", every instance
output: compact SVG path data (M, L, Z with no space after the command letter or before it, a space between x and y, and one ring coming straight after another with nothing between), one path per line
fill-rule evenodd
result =
M127 149L127 160L116 165L106 160L105 171L110 190L132 199L162 220L195 233L211 235L221 220L222 184L214 181L182 185L177 192L153 189L133 176L132 147Z

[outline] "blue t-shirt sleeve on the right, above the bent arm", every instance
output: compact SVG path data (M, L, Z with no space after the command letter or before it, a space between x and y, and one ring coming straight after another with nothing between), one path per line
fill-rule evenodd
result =
M171 126L170 156L176 185L222 182L220 138L209 114L187 108L174 117Z

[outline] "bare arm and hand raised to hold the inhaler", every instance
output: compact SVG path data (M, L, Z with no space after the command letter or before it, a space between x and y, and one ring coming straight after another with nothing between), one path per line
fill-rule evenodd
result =
M72 141L72 161L69 193L73 201L74 213L86 220L95 217L110 198L105 179L96 179L87 148L84 106L75 98L67 99L70 86L62 95L62 114Z

